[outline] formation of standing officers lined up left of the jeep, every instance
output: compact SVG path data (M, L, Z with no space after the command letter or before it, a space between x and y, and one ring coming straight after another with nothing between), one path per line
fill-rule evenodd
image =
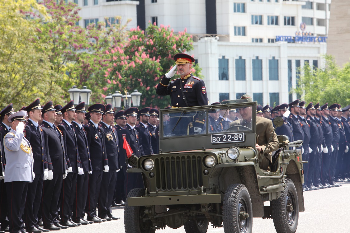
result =
M93 104L86 111L84 102L36 99L18 112L9 104L0 119L1 232L118 220L111 207L143 187L141 175L126 173L126 142L138 157L158 152L156 108L116 113L110 104Z

